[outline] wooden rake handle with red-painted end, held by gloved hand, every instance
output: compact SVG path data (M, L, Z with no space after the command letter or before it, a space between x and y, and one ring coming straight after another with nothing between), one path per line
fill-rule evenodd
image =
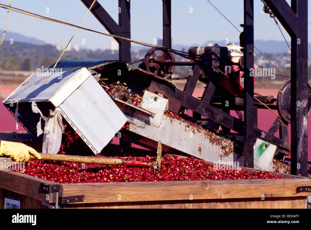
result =
M118 159L118 158L72 156L72 155L59 155L59 154L46 154L46 153L39 153L39 154L41 156L41 160L46 160L46 161L66 161L66 162L88 163L88 164L98 164L98 165L128 165L128 166L141 166L141 167L152 166L151 163L147 163L147 162L125 160L125 159ZM30 155L30 159L36 159L36 158Z

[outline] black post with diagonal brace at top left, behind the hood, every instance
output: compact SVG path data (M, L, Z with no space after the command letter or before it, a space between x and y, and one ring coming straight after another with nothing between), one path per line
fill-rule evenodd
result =
M90 8L93 0L81 0L83 4ZM117 24L107 11L96 1L91 8L92 14L112 35L131 38L131 17L130 2L127 0L118 0L119 23ZM131 42L114 38L119 43L119 60L131 61Z

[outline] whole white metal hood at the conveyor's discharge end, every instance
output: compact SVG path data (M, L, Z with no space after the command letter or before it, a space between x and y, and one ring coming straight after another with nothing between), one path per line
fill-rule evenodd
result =
M51 101L98 154L127 118L86 68L52 74L45 83L46 78L32 74L3 103Z

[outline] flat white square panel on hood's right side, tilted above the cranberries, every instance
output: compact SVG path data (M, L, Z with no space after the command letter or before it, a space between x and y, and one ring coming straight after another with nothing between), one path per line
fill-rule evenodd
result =
M62 115L98 154L127 121L114 101L90 76L60 106Z

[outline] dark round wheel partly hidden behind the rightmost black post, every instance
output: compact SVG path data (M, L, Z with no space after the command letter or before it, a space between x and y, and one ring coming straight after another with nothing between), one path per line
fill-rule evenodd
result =
M308 117L309 117L311 113L311 110L310 110L311 88L309 84L308 84L308 89L309 89L309 93L308 93ZM277 96L276 96L276 107L281 117L285 121L290 123L290 79L288 79L281 85L279 92L277 93Z

